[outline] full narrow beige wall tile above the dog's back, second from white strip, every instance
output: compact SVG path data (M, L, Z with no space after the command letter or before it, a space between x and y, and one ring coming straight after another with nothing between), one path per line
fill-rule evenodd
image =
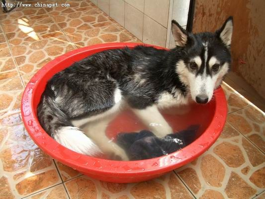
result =
M143 39L144 13L125 3L125 28L138 39Z

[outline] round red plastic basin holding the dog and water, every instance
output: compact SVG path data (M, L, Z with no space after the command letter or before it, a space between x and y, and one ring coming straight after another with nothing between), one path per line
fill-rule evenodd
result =
M227 103L222 88L216 90L217 97L215 100L206 105L195 105L189 114L179 117L182 118L180 123L183 124L179 127L180 129L190 124L199 123L203 126L201 135L183 149L158 158L140 161L113 161L89 157L60 145L42 129L37 118L37 105L47 81L55 73L94 53L136 45L138 44L108 43L74 50L49 62L33 76L24 91L21 112L29 135L44 152L91 178L114 183L133 183L159 177L191 162L216 141L224 127L227 114ZM158 46L154 47L163 49ZM170 120L171 125L174 125L174 119L171 118L170 114L165 113L164 116L168 117L167 119ZM124 130L115 129L115 126L117 126L115 124L121 122L121 120L127 122L124 126L130 126L130 121L129 119L126 120L126 115L121 115L111 122L107 133L111 134L116 130Z

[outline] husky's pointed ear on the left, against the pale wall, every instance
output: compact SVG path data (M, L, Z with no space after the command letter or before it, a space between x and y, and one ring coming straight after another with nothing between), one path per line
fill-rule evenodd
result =
M172 20L171 30L174 36L177 46L183 47L187 43L187 33L186 31L177 23L177 21Z

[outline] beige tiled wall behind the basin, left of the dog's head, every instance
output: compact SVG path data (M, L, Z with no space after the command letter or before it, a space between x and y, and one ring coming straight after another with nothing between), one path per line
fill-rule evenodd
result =
M189 0L91 0L144 43L174 47L171 20L186 27Z

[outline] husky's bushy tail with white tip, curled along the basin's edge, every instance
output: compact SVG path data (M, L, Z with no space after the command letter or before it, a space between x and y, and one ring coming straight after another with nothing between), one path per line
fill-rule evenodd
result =
M89 156L102 155L98 146L84 132L72 125L52 97L43 95L38 105L38 118L44 130L63 146Z

